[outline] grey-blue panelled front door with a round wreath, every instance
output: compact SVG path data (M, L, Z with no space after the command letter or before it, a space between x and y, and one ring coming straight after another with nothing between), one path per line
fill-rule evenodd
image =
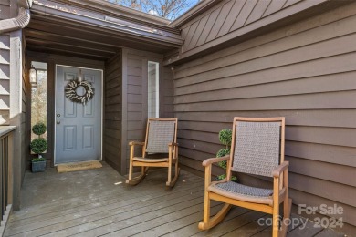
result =
M94 88L87 103L73 102L65 88L81 76ZM101 160L102 71L79 67L56 67L55 164ZM77 95L84 95L79 87Z

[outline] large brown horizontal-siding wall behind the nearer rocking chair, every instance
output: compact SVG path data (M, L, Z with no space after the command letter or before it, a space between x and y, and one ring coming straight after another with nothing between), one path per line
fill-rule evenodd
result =
M271 1L264 14L295 2ZM176 67L183 165L203 171L201 161L223 147L218 131L231 129L235 116L284 116L294 203L336 203L355 231L355 42L351 3Z

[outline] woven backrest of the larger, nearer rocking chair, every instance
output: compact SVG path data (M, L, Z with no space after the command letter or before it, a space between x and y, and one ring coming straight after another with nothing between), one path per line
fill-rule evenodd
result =
M234 118L231 148L232 170L272 177L284 160L284 118Z

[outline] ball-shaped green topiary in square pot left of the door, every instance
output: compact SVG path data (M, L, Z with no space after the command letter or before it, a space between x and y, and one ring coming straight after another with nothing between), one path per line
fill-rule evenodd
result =
M37 158L31 160L32 172L43 172L46 168L46 159L41 155L47 150L47 140L41 138L46 129L46 125L43 122L39 122L32 127L32 131L38 136L37 139L33 139L30 143L32 152L38 155Z

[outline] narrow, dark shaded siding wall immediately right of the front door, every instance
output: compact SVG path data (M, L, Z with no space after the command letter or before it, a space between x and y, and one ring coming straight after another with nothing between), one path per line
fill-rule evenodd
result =
M120 170L121 110L122 110L122 59L111 58L105 65L104 108L104 160L115 170Z

